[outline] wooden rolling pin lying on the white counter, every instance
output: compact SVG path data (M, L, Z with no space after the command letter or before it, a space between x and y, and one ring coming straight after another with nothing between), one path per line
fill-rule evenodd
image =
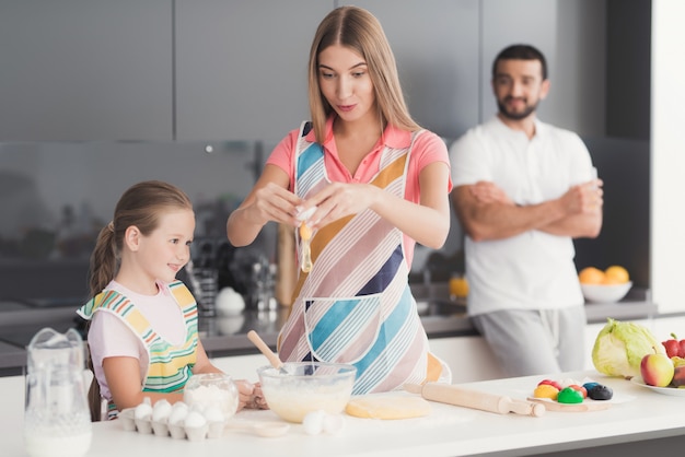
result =
M546 411L545 406L527 400L512 400L504 395L487 394L478 390L469 390L453 384L426 383L405 384L405 390L413 394L421 394L427 400L441 403L455 405L457 407L479 409L481 411L508 414L510 412L539 418Z

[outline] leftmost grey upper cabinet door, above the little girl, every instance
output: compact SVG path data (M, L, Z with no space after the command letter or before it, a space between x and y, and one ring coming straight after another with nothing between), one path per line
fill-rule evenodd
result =
M171 0L0 4L0 141L171 140Z

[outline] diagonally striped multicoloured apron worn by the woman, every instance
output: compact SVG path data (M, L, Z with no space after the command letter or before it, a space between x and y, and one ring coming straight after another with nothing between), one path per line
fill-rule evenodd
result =
M304 199L329 184L323 148L305 139L310 129L305 122L294 155L294 191ZM410 148L385 148L371 184L404 198L409 154ZM437 379L440 362L428 353L409 290L403 233L364 210L317 230L311 253L313 268L300 271L279 335L281 360L353 364L355 395Z

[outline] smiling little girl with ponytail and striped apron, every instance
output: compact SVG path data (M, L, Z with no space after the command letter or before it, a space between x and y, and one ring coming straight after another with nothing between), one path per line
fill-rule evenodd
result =
M220 373L198 338L197 304L175 279L190 259L194 230L193 204L181 189L143 181L124 192L100 232L91 257L93 298L78 314L91 320L94 386L107 400L108 419L144 397L182 400L193 374ZM241 380L237 387L239 408L265 406L258 386Z

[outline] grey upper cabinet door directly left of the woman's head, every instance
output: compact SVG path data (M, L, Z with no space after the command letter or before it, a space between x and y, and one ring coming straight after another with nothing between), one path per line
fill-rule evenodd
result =
M176 137L278 141L309 119L307 61L333 1L176 1Z

